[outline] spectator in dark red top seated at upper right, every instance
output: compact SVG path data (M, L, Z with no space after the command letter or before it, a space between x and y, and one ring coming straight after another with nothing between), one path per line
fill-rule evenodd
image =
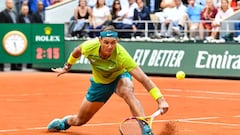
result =
M204 33L212 30L212 21L215 19L218 9L213 5L212 0L206 0L206 6L201 12L201 21L199 24L199 37L200 40L204 39Z

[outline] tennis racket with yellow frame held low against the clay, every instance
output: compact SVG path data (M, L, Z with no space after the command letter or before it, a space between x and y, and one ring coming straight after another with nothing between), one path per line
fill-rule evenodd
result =
M162 112L163 110L159 109L150 116L126 118L120 123L119 132L121 135L153 135L152 122Z

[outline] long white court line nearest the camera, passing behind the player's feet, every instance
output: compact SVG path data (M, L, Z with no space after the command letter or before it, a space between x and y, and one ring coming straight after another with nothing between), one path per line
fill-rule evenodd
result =
M168 121L191 121L191 120L209 120L209 119L216 119L219 117L199 117L199 118L186 118L186 119L172 119L172 120L154 120L154 123L161 123L161 122L168 122ZM119 125L120 122L115 123L93 123L93 124L86 124L86 127L95 127L95 126L109 126L109 125ZM30 130L43 130L47 127L33 127L33 128L23 128L23 129L0 129L0 133L6 132L17 132L17 131L30 131Z

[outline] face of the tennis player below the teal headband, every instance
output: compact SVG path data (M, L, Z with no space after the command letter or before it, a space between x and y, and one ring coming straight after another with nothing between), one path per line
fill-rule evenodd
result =
M114 49L116 48L118 39L117 38L100 38L99 39L101 44L100 54L103 54L106 57L111 56Z

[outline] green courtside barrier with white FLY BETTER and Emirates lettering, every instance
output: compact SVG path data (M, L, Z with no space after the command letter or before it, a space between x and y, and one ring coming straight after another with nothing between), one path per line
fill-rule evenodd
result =
M66 56L68 57L73 48L81 42L65 41ZM146 73L175 74L183 70L187 75L239 77L240 45L238 44L120 43ZM84 57L72 67L72 70L91 71Z

